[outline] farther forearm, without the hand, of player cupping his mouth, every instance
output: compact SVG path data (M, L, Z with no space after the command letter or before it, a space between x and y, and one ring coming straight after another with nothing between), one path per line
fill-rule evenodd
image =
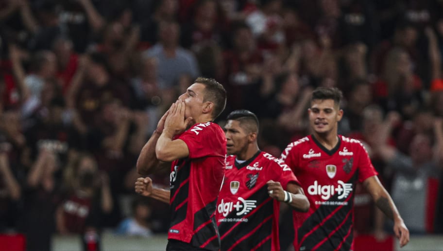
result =
M155 167L159 165L159 161L155 155L155 144L159 137L160 133L154 131L149 141L141 149L136 165L139 174L152 174Z

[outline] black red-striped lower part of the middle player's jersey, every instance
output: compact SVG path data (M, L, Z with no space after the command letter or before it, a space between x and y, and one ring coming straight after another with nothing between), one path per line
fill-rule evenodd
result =
M235 245L239 240L241 242L234 246L234 250L250 250L272 234L273 199L268 196L267 191L268 187L263 186L251 197L245 198L261 202L257 204L256 210L253 209L248 215L238 216L236 215L237 211L233 210L226 216L226 218L248 219L248 222L222 222L219 225L220 236L222 236L222 250L232 248L232 245ZM263 219L267 219L266 222L263 222ZM263 225L257 228L262 223ZM263 250L270 250L270 248Z

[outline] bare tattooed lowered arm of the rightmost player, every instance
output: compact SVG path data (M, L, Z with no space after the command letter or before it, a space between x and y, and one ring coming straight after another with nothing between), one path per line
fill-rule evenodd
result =
M398 213L397 207L392 201L391 196L380 183L376 176L369 177L363 181L366 190L371 194L375 201L375 205L390 219L394 221L394 233L400 240L400 247L405 246L409 242L409 230L403 222L402 217Z

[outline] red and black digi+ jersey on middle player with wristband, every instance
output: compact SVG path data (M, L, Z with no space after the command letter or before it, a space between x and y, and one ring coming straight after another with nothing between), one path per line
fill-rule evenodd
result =
M285 190L289 182L299 184L290 168L269 153L258 151L241 164L233 155L226 158L216 213L222 251L280 250L280 203L268 195L271 179Z

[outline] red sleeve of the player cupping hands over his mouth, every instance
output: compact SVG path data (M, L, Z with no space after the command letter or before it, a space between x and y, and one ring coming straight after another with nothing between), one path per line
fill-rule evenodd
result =
M222 141L219 140L219 131L211 128L213 126L214 125L206 127L198 132L189 129L178 137L178 139L186 143L190 159L218 155L217 150L221 147L226 147L222 145Z

